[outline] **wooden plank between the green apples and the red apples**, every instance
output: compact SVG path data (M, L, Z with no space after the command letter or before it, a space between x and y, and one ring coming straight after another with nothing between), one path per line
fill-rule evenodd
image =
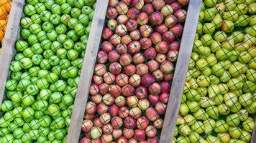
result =
M108 3L109 1L106 0L98 1L96 4L88 44L86 47L86 55L83 61L83 68L78 83L78 91L76 93L73 114L68 130L68 143L76 143L79 141L83 116L86 110L86 102L88 99L89 88L91 86L94 64L96 62L96 56L101 41L101 33L104 28Z

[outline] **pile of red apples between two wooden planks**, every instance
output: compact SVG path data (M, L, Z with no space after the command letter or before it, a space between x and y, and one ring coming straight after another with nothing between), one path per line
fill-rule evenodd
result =
M188 0L109 0L81 143L159 142Z

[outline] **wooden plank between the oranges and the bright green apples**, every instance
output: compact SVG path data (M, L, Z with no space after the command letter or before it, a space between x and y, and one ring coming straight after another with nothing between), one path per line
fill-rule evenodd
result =
M5 84L9 76L9 65L16 52L15 41L19 34L19 21L22 17L24 0L12 1L12 9L9 14L9 21L6 27L4 36L4 44L2 46L2 53L0 54L0 104L5 98Z

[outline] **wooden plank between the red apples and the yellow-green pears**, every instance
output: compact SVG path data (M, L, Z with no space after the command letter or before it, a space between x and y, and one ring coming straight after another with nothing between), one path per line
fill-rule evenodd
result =
M173 84L170 91L168 107L165 113L163 129L160 135L160 142L173 142L173 134L188 71L188 64L193 49L193 41L196 35L196 27L201 9L201 2L202 0L191 0L188 4L188 14L181 39L180 51L175 67Z

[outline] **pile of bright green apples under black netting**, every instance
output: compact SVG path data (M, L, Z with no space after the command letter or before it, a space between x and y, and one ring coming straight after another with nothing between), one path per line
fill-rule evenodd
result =
M96 0L27 0L0 142L66 142Z

